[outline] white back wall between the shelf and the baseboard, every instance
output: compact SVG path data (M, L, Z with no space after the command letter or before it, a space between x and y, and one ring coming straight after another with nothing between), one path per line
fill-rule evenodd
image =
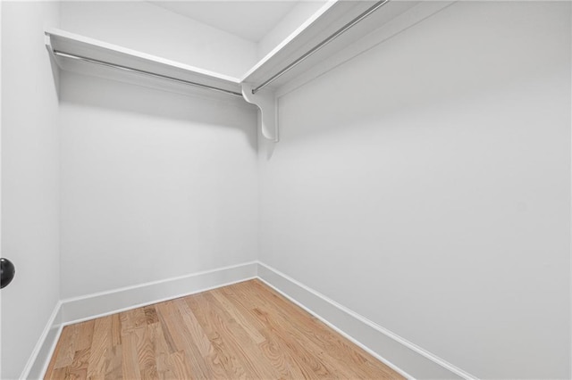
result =
M257 258L256 109L63 72L63 298Z

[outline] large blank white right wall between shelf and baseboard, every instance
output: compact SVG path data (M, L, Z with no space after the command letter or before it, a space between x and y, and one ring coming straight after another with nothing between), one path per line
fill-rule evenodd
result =
M475 376L569 378L570 20L459 2L283 96L260 259Z

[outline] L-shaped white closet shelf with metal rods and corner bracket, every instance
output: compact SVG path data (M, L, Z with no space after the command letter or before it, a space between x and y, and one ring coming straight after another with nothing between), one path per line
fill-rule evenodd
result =
M172 89L165 83L174 82L178 86L193 85L244 97L261 111L263 136L277 142L276 91L280 87L308 70L324 66L334 54L419 3L329 1L243 78L231 78L60 29L46 30L46 48L62 70L164 89Z

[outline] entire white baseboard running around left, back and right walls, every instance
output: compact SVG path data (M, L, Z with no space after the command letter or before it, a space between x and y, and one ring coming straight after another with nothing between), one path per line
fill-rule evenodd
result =
M38 344L30 355L21 378L36 379L44 376L63 326L252 278L259 278L273 287L290 301L307 310L403 376L423 379L476 378L259 261L58 302Z

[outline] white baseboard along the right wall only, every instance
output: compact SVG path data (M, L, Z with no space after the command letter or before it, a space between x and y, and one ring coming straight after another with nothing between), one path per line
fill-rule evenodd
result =
M476 376L262 262L258 262L258 278L403 376L476 379Z

